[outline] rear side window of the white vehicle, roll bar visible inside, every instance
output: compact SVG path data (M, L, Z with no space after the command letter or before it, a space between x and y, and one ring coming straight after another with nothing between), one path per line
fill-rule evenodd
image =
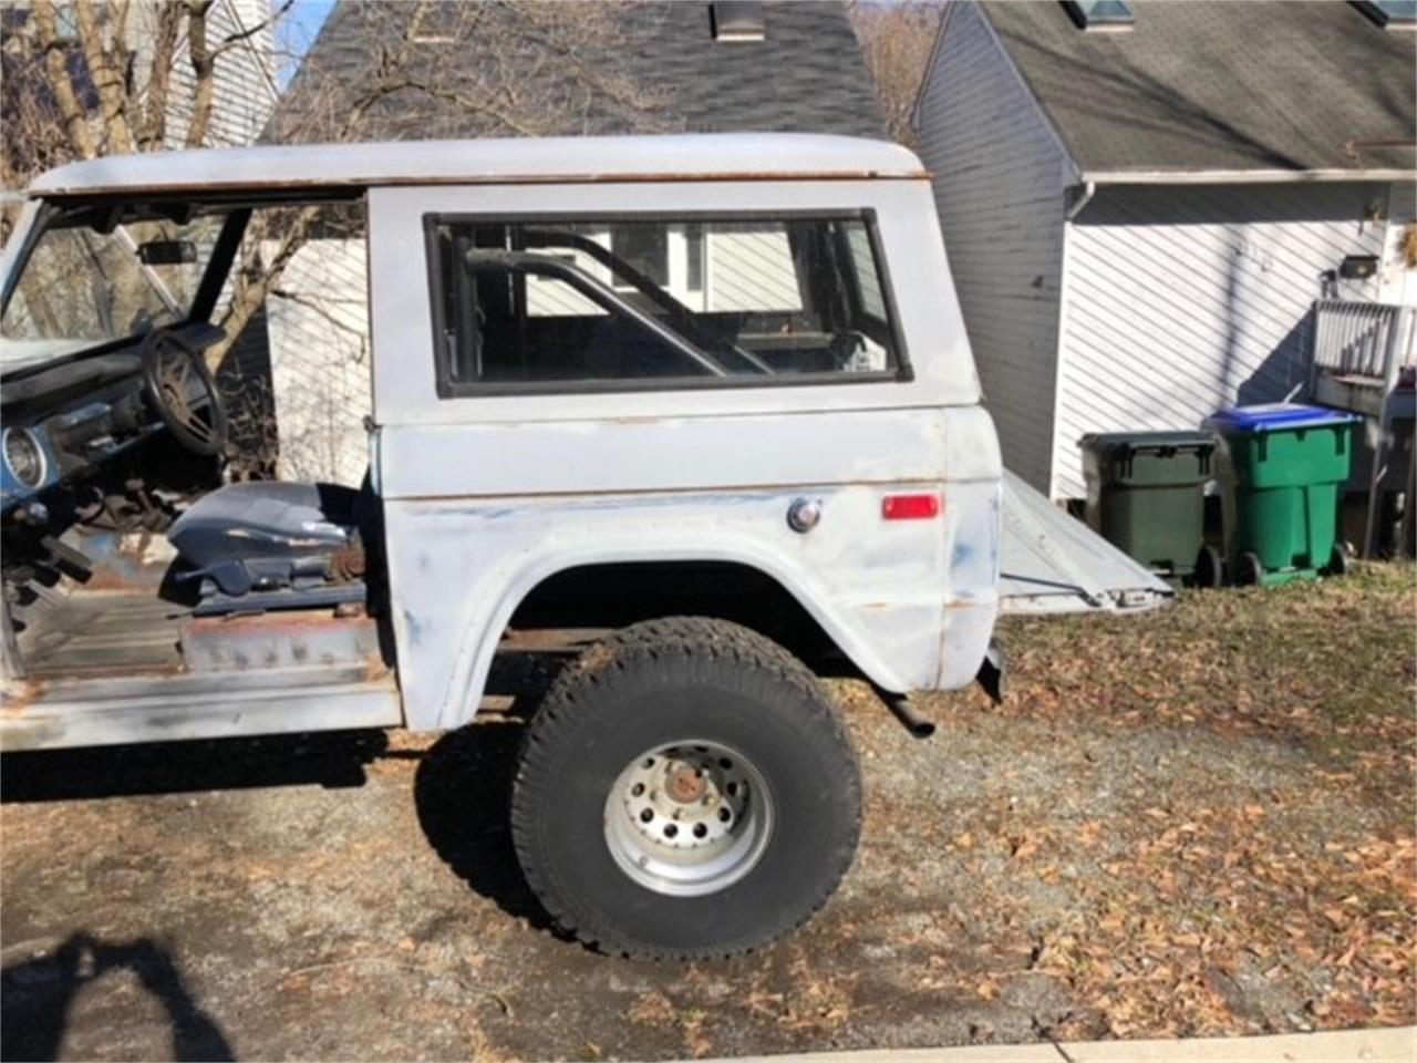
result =
M431 218L428 240L444 397L900 377L863 214Z

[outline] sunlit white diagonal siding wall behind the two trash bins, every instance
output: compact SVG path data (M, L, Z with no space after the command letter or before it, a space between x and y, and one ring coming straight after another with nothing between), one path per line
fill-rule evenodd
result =
M1382 184L1100 189L1068 235L1054 497L1084 495L1085 432L1196 428L1297 394L1325 271L1383 248ZM1374 299L1374 281L1333 298Z

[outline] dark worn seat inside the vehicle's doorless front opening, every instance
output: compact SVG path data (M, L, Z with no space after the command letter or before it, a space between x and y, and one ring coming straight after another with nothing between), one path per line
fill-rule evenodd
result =
M230 483L167 530L188 574L222 594L300 587L334 577L334 554L359 541L361 493L334 483Z

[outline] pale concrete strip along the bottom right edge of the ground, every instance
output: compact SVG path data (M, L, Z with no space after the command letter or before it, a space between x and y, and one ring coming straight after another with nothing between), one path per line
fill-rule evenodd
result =
M1091 1040L1077 1045L969 1045L744 1056L721 1063L1413 1063L1417 1026L1274 1037Z

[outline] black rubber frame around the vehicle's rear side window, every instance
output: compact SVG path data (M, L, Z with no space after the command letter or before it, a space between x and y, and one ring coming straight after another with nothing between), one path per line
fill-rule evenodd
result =
M728 374L724 377L625 377L622 380L531 380L531 381L455 381L449 373L444 336L448 319L444 313L442 292L444 262L438 245L439 225L591 225L619 223L665 223L665 224L707 224L707 223L762 223L762 221L860 221L870 238L876 275L880 281L886 303L886 327L896 350L896 366L879 373L796 373L791 376L748 376ZM890 266L873 207L843 207L822 210L687 210L687 211L512 211L512 213L469 213L469 211L427 211L424 223L424 258L428 276L428 302L432 333L429 336L434 357L434 381L439 400L445 398L493 398L503 395L584 395L625 394L653 391L721 391L728 388L779 388L818 387L822 384L908 384L915 378L911 369L905 334L901 329L896 291L890 278ZM707 248L708 232L704 232ZM707 274L707 271L706 271ZM707 281L707 275L704 276ZM686 308L687 309L687 308ZM694 313L693 310L689 310Z

